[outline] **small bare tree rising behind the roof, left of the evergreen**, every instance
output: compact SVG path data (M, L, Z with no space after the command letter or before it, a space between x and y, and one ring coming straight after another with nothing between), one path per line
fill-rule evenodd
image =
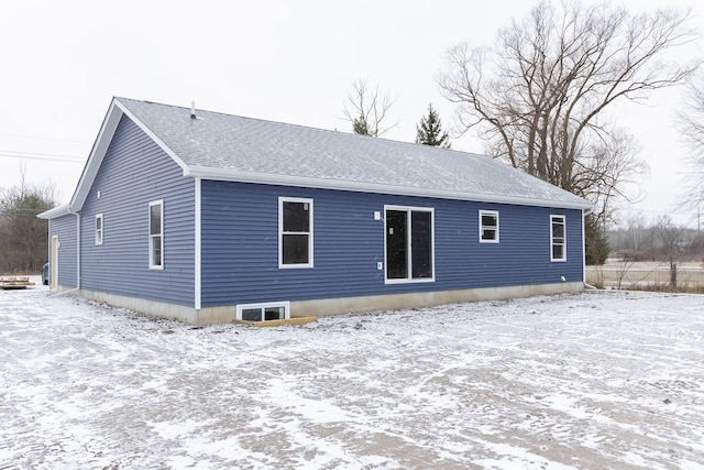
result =
M362 79L353 81L352 88L343 112L345 119L352 123L355 134L377 138L398 124L398 121L392 125L384 123L388 121L388 111L396 98L392 99L388 94L380 96L378 86L370 90L366 80Z

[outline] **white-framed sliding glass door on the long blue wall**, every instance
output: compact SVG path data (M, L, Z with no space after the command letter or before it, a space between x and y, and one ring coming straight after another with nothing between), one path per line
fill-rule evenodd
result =
M435 281L433 209L386 207L386 282Z

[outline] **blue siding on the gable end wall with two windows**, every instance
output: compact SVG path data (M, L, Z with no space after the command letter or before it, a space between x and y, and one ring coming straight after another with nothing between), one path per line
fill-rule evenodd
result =
M164 270L150 270L148 204L158 199ZM102 245L95 244L96 214ZM194 220L194 178L123 116L81 211L81 287L193 307Z

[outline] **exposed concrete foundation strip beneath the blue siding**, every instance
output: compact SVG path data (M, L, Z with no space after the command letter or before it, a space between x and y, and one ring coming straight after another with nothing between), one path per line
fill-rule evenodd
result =
M62 289L62 287L59 287ZM290 303L292 315L323 317L330 315L395 310L402 308L431 307L437 305L459 304L464 302L498 300L506 298L528 297L532 295L551 295L584 289L581 282L521 285L512 287L468 288L459 291L438 291L410 294L372 295L367 297L323 298L314 300L295 300ZM237 319L237 305L208 307L199 310L183 305L146 300L124 295L107 294L86 289L76 291L82 297L103 302L116 307L128 308L160 318L169 318L193 325L229 324ZM276 300L282 300L276 298Z

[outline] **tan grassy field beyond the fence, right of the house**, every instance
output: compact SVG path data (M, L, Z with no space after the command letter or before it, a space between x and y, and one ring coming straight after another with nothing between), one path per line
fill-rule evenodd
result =
M609 259L602 266L586 266L586 282L601 288L662 291L672 288L669 262L622 261ZM676 263L679 292L704 293L704 263Z

